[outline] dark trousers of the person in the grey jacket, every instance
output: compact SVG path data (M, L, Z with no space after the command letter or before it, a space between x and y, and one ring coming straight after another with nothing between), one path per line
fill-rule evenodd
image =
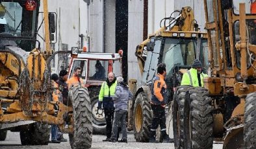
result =
M118 111L114 111L114 122L111 139L117 140L118 128L120 127L122 128L122 139L127 139L126 115L127 110L120 109Z

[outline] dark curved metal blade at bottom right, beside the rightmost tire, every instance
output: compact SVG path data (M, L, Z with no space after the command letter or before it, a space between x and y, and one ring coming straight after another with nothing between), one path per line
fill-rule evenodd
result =
M224 138L224 149L242 148L244 146L244 125L235 126L227 130Z

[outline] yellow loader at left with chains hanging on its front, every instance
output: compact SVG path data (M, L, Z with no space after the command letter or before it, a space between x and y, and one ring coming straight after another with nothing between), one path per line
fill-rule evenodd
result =
M47 0L43 6L45 49L36 39L42 26L38 23L40 1L0 1L0 138L4 140L6 130L11 130L20 132L21 144L48 144L48 124L57 124L61 132L69 133L71 148L90 148L88 90L71 88L67 105L50 101L50 62L56 54L67 52L52 52L56 17L48 13Z

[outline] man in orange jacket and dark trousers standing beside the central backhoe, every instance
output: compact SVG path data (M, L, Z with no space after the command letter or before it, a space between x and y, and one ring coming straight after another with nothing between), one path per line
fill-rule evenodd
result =
M166 133L166 117L165 117L165 106L166 101L166 83L164 77L166 76L166 65L160 63L157 67L157 76L153 79L153 85L151 88L151 109L153 110L153 120L151 123L149 143L156 143L155 136L156 130L160 125L160 132L163 137L164 143L170 143L171 140Z

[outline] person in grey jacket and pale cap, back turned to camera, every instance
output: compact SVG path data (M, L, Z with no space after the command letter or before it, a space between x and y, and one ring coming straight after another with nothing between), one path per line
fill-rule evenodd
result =
M122 140L118 141L120 143L127 143L127 129L126 129L126 115L128 112L128 100L133 98L131 91L129 91L129 87L125 82L123 82L123 78L118 76L116 78L118 85L116 86L116 93L114 95L114 124L112 128L112 137L111 141L116 142L116 136L118 135L118 128L122 128Z

